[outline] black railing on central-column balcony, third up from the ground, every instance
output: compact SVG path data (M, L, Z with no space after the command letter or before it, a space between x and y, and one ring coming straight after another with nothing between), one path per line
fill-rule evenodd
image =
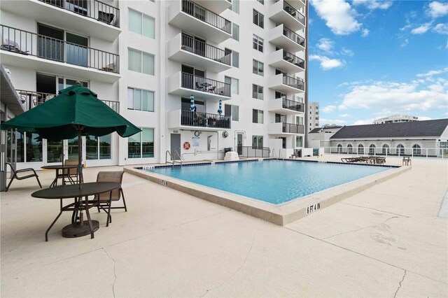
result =
M213 45L209 45L208 43L204 43L204 41L198 41L192 36L188 36L187 34L182 34L182 50L186 50L188 52L193 52L196 55L200 55L202 57L206 57L217 62L221 62L223 64L230 65L231 55L220 48L216 48Z

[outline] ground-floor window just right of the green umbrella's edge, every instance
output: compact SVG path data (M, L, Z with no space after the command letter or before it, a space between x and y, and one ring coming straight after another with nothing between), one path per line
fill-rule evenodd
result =
M154 157L154 129L142 128L141 132L127 138L128 158Z

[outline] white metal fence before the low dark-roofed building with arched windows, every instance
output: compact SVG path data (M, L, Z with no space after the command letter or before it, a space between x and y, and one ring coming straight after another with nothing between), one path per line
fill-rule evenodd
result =
M324 147L325 154L407 156L407 157L448 157L448 148L420 147Z

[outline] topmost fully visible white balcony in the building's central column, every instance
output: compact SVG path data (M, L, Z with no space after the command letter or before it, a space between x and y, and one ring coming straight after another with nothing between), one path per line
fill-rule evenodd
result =
M175 1L168 9L168 22L183 31L214 43L232 37L232 22L190 0Z

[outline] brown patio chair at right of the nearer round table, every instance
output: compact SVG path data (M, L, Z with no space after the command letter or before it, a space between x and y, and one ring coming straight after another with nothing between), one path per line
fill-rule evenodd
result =
M121 182L123 181L123 171L100 171L97 176L97 182L116 182L120 183L120 188L112 190L111 192L104 192L102 194L97 194L94 200L98 201L97 208L100 212L100 208L107 213L107 223L106 227L109 227L109 222L112 222L111 209L125 209L126 201L125 194L123 194L123 188L121 188ZM123 196L123 207L112 207L112 201L119 201L120 197Z

